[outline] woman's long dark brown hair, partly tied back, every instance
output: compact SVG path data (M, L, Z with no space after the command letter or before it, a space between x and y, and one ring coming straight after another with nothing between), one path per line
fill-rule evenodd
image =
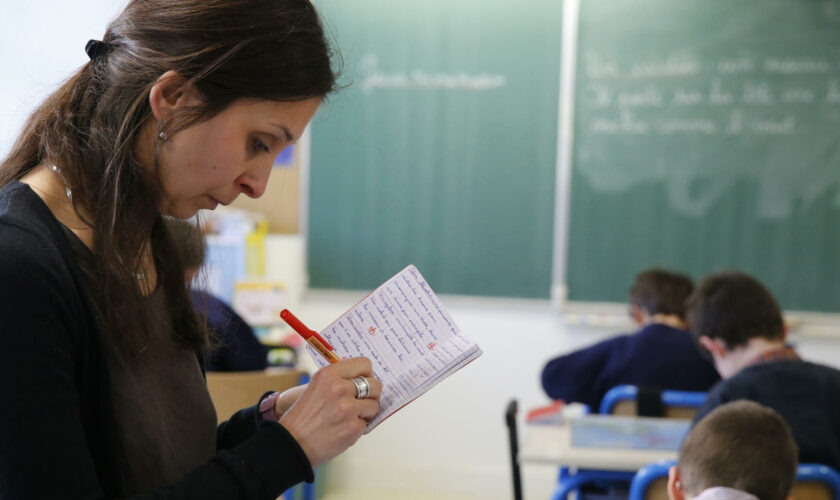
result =
M74 209L89 214L101 264L108 330L125 352L146 343L142 292L135 272L150 242L170 304L174 334L201 348L183 266L157 211L162 192L137 158L151 114L149 92L175 71L200 105L159 125L172 136L239 99L299 101L335 89L332 51L310 0L133 0L108 26L103 44L29 117L0 165L0 186L41 162L58 165ZM82 50L83 41L80 41ZM154 170L158 173L156 146Z

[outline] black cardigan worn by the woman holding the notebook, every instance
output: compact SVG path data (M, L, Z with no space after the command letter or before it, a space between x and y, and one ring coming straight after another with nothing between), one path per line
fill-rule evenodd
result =
M107 362L60 223L25 184L0 188L0 498L113 498L115 422ZM218 453L144 498L273 499L312 481L286 429L246 408Z

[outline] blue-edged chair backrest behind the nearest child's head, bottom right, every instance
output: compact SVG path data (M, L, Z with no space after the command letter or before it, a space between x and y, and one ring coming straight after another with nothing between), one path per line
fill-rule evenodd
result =
M674 460L662 460L639 469L630 483L629 500L668 498L668 469ZM820 464L799 464L790 490L793 500L840 499L840 473Z

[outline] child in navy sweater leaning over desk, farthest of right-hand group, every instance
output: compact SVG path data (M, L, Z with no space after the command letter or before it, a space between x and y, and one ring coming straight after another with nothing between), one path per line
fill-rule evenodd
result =
M639 330L550 361L542 385L552 399L578 401L597 411L611 388L708 390L720 377L685 328L691 278L663 269L636 276L630 312Z

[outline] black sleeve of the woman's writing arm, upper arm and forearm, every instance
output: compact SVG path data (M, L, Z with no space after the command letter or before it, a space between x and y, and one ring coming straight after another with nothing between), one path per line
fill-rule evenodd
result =
M83 304L56 247L2 222L0 318L0 498L107 498L81 402ZM140 498L273 499L311 481L294 438L250 411L234 446Z

